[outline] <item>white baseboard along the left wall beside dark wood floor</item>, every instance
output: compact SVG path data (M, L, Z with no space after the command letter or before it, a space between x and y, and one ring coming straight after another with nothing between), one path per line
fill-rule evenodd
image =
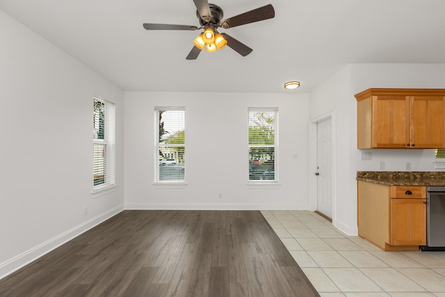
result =
M51 250L58 248L59 246L63 245L63 243L66 243L67 241L74 239L74 237L79 236L83 232L90 230L92 227L99 225L105 220L108 220L108 218L111 218L112 216L119 214L123 210L124 210L124 205L120 204L117 207L114 207L113 209L105 211L103 214L99 214L99 216L95 216L95 218L91 218L90 220L87 220L86 222L77 225L71 230L67 230L62 234L59 234L58 236L55 236L52 239L49 239L48 241L45 241L44 243L41 243L40 245L35 246L34 248L31 248L26 252L22 252L22 254L17 255L16 257L13 257L12 259L9 259L8 261L1 263L0 280L6 277L6 275L10 275L10 273L13 273L14 271L17 271L19 268L22 268L23 266L26 266L27 264L33 262L35 259L38 259L43 255L47 254L48 252L51 252Z

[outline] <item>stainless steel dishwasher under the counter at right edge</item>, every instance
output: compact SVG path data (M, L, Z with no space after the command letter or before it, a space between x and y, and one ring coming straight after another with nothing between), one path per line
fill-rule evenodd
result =
M445 186L427 186L426 191L426 246L421 250L445 250Z

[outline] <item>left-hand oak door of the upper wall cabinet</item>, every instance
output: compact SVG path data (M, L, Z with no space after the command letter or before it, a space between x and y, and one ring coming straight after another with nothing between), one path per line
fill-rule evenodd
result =
M406 148L410 143L410 99L373 96L372 147Z

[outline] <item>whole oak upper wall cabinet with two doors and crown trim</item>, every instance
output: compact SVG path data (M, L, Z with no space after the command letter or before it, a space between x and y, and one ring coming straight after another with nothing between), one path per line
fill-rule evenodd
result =
M371 88L357 99L357 148L444 148L445 90Z

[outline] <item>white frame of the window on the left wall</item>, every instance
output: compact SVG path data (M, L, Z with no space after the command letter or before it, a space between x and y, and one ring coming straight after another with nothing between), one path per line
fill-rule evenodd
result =
M96 111L93 109L92 193L115 187L115 104L95 96L93 97L93 106L96 102L104 104L104 137L103 139L95 137ZM104 145L104 182L101 184L95 184L95 145Z

